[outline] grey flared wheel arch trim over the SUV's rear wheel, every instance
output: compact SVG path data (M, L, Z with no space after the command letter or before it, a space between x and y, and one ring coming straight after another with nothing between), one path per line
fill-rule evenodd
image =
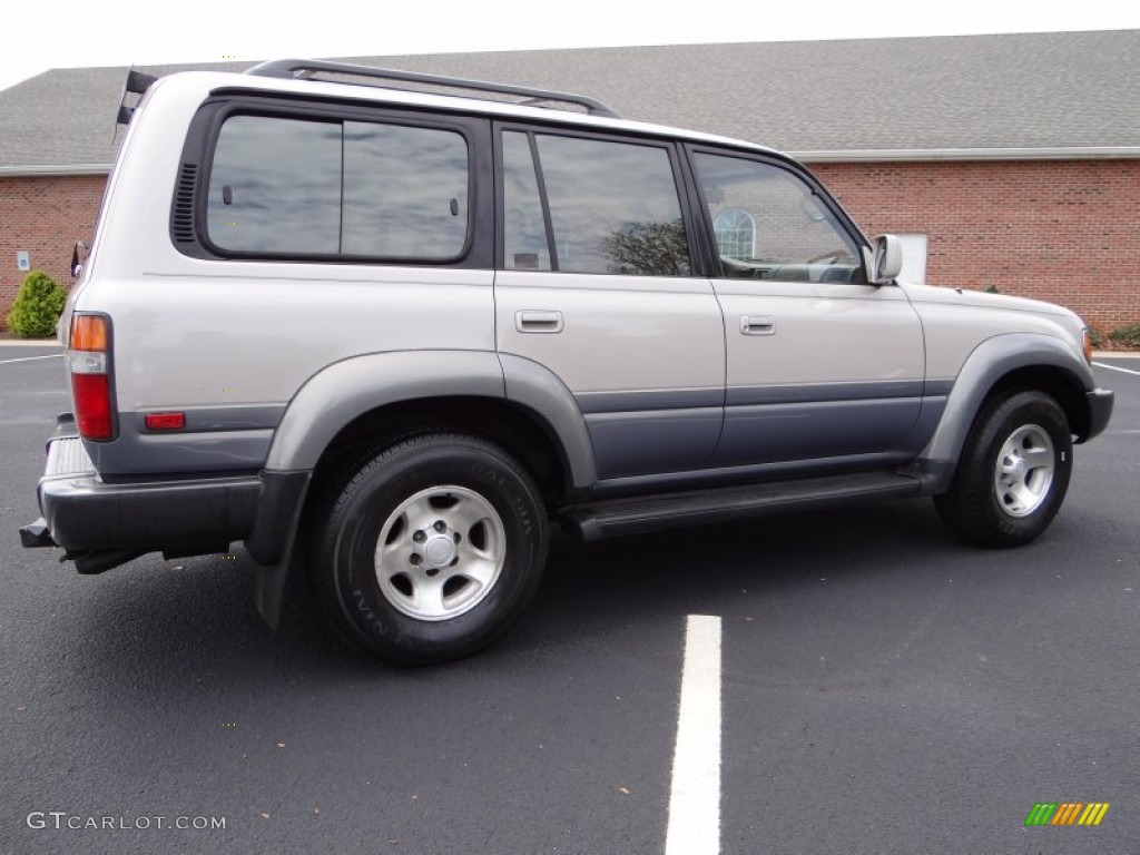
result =
M490 351L370 353L310 377L290 401L261 472L246 539L254 561L288 561L315 473L377 429L390 437L422 426L466 430L537 465L551 492L592 484L593 446L573 396L542 366L503 359L508 368Z

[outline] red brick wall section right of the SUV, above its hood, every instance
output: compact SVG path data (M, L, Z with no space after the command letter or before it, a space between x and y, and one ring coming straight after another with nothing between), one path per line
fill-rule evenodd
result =
M826 163L812 171L869 236L928 236L927 282L1140 323L1140 161Z

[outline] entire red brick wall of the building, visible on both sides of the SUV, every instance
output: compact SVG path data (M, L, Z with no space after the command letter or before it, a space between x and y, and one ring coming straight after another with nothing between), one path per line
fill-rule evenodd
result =
M869 235L926 234L927 282L1061 303L1107 332L1140 323L1140 161L826 163L813 171ZM101 176L0 178L0 318L16 251L71 283Z

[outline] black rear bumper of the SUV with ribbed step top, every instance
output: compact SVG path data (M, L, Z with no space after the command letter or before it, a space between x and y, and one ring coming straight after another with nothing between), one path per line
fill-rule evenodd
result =
M48 442L40 479L43 520L21 536L82 553L223 552L249 535L260 489L255 474L105 483L82 440L62 435Z

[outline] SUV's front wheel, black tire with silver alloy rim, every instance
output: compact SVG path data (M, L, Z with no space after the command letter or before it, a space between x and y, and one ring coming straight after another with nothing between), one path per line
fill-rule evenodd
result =
M1052 522L1072 473L1065 410L1043 392L1011 392L978 415L950 490L935 497L935 507L971 543L1020 546Z

